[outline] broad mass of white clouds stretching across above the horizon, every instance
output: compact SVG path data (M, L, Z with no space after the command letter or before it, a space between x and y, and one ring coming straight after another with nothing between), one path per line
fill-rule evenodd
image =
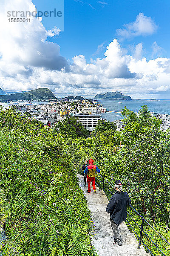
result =
M23 9L35 9L31 0L8 0L5 7L19 2ZM0 19L5 18L3 15L0 11ZM104 58L93 58L88 62L84 55L77 55L68 66L59 54L59 46L47 41L48 36L58 33L57 28L46 31L42 21L36 18L30 24L19 26L1 22L0 87L5 91L48 87L56 96L95 96L106 91L121 91L133 98L162 93L168 97L170 94L170 59L147 61L142 58L142 43L136 45L133 56L130 56L114 39ZM157 49L155 54L158 54L157 44L153 44L153 49Z

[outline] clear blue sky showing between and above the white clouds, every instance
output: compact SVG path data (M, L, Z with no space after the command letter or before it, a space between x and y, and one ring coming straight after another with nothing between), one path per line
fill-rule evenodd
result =
M46 0L34 0L37 6L45 5ZM88 3L89 4L88 4ZM55 7L55 1L48 1L50 8ZM102 4L103 3L103 4ZM91 5L91 6L90 6ZM143 43L144 55L152 57L154 41L163 48L160 56L170 57L170 1L168 0L65 0L65 29L59 37L51 40L60 45L61 55L72 58L83 54L86 59L103 58L106 46L117 38L116 29L122 29L126 23L133 22L139 13L151 17L158 26L157 32L149 36L139 36L121 43L130 53L130 46ZM52 21L53 20L53 21ZM55 18L42 20L46 29L54 26ZM56 24L57 26L57 24ZM97 47L103 44L100 52ZM95 55L94 55L95 54Z

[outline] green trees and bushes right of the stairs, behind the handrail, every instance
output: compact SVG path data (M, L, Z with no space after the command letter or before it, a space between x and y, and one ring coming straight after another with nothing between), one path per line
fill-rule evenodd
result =
M68 140L65 148L80 166L86 158L93 157L101 175L113 186L116 179L122 180L133 207L170 242L170 131L160 130L161 121L150 115L147 106L138 114L124 108L122 114L123 131L115 131L109 122L99 122L91 138ZM124 145L121 150L120 141ZM132 216L141 223L135 212ZM139 227L130 218L128 221L139 234ZM149 227L144 226L144 230L169 256L167 244ZM143 239L159 256L159 250L147 237Z

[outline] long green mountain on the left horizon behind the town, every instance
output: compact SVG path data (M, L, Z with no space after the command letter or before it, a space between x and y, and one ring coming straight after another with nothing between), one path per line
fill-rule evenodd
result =
M49 99L56 99L56 97L51 92L51 90L49 90L48 88L39 88L36 90L31 90L26 93L14 93L14 94L9 94L9 95L7 95L7 94L0 95L0 101L7 101L7 100L40 101L40 100L49 100Z

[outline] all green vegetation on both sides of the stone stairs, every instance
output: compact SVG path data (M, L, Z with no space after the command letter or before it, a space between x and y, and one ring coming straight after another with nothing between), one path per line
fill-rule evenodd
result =
M90 137L74 117L51 130L14 108L0 112L0 225L8 237L1 246L4 255L95 255L85 196L72 168L91 157L113 186L122 180L133 207L170 242L170 131L160 130L161 121L147 106L137 114L124 108L122 115L123 131L100 121ZM139 227L128 221L139 234ZM149 226L144 231L170 256L170 248ZM144 235L143 241L160 255Z

